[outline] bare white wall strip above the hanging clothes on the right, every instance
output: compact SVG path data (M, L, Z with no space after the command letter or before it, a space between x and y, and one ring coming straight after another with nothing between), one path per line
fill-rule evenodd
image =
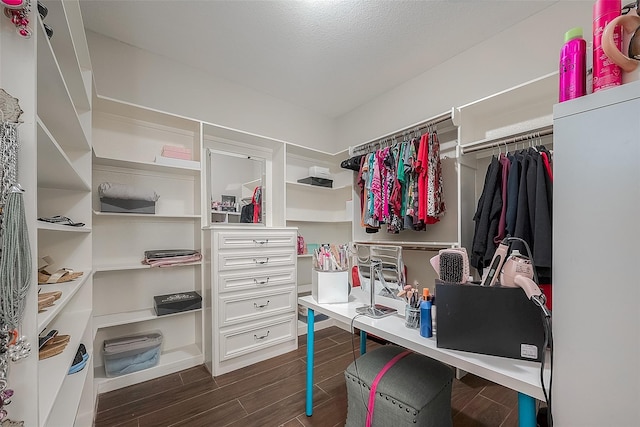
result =
M591 1L558 2L476 45L469 34L466 52L340 117L333 150L392 133L556 71L568 29L582 26L584 38L591 40L592 5Z

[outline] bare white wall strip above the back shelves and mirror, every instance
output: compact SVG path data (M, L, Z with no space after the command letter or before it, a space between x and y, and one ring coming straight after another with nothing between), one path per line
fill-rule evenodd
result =
M307 147L335 140L333 119L87 31L96 92Z

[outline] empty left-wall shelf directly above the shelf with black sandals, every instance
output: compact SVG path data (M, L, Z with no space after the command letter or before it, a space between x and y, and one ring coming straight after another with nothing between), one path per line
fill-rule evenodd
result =
M38 125L38 187L91 191L91 185L78 173L56 139L39 118Z

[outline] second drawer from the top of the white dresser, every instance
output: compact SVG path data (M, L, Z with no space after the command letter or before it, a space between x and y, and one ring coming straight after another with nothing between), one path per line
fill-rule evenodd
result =
M295 248L218 252L218 271L295 265Z

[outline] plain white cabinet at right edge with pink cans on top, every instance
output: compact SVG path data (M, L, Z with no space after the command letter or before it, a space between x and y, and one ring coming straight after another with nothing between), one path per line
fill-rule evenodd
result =
M553 417L640 425L640 82L557 104L553 126Z

